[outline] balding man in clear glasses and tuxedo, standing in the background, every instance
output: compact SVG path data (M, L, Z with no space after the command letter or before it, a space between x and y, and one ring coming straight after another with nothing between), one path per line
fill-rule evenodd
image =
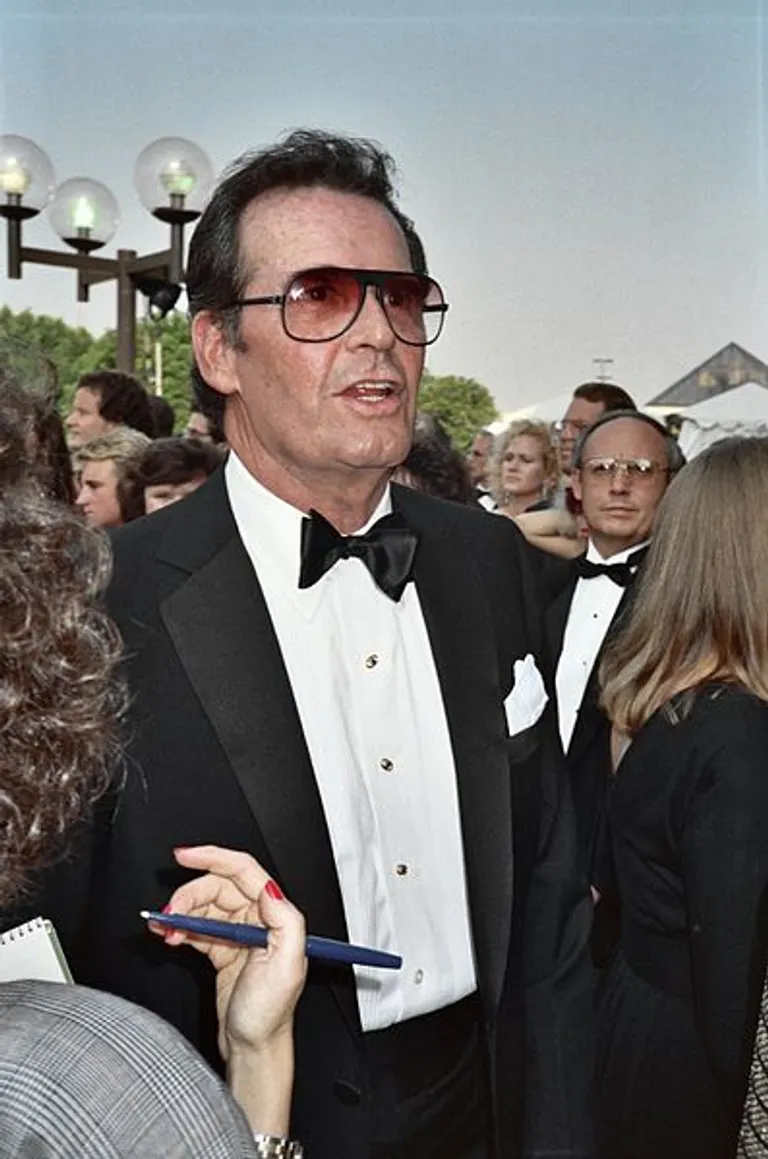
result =
M544 619L579 844L590 868L610 774L600 658L628 607L658 505L681 465L673 437L638 410L606 413L573 449L571 482L587 525L587 549L548 569Z

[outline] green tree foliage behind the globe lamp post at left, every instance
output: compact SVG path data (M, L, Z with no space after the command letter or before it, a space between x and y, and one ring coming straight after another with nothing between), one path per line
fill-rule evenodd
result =
M70 406L81 374L114 367L117 362L115 330L105 330L94 337L83 327L67 326L59 318L32 314L30 311L14 314L7 306L0 308L0 343L5 337L37 347L51 358L59 376L64 410ZM155 351L156 343L161 347L160 357ZM192 360L186 318L173 311L159 322L144 319L137 327L136 348L137 378L154 392L161 367L163 398L176 411L176 430L183 430L189 414L189 367Z

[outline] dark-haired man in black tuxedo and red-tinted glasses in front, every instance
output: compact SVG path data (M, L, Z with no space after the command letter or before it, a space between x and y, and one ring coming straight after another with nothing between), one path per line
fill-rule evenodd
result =
M79 981L215 1059L205 963L138 911L178 883L173 846L248 850L312 932L403 956L310 963L293 1134L312 1159L587 1156L590 906L526 547L389 486L445 312L389 159L308 131L243 158L188 294L198 401L232 452L115 537L125 782L45 912Z

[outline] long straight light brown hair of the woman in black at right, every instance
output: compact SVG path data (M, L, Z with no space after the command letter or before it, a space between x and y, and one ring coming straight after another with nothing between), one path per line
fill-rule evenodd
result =
M631 614L600 666L602 705L629 736L709 680L768 700L765 438L723 439L671 483Z

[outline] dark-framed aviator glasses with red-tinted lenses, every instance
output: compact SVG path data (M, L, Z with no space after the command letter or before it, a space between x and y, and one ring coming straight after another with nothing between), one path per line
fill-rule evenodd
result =
M426 274L323 265L294 274L283 293L241 298L228 308L279 306L290 338L331 342L354 325L368 286L393 334L405 345L429 347L439 337L448 306L438 283Z

